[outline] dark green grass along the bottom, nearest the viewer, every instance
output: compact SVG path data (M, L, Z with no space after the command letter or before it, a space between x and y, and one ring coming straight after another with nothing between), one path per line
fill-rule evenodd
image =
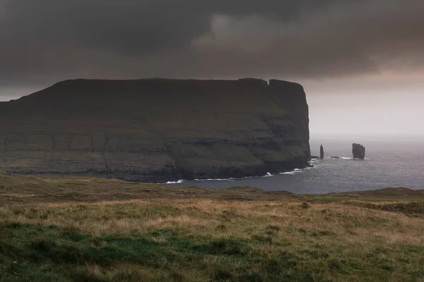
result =
M424 276L424 246L379 246L363 254L366 259L346 250L354 246L328 250L317 243L295 252L275 227L268 228L275 235L252 240L178 228L98 237L54 225L6 222L0 229L1 281L400 281L393 280L400 270L401 281Z

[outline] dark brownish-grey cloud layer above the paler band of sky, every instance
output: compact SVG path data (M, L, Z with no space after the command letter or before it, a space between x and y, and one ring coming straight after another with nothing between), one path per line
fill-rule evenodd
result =
M422 0L0 0L0 85L424 66Z

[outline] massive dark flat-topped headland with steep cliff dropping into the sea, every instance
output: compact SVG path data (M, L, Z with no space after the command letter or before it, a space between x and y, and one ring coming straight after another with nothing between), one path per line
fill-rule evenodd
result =
M139 181L240 178L310 158L301 85L67 80L0 103L0 170Z

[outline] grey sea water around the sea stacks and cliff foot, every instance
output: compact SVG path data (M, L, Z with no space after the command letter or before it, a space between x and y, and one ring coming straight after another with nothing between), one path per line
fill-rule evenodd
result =
M365 145L365 160L352 159L352 143ZM313 168L242 180L179 181L170 185L201 188L252 186L301 194L325 194L380 188L424 189L424 142L413 140L311 140L312 155L324 145L325 159ZM331 159L342 157L343 159Z

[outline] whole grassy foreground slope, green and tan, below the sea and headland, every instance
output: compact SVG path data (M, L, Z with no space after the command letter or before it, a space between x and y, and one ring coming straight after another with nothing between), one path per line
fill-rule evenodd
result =
M0 281L424 277L423 191L352 198L17 176L0 188Z

